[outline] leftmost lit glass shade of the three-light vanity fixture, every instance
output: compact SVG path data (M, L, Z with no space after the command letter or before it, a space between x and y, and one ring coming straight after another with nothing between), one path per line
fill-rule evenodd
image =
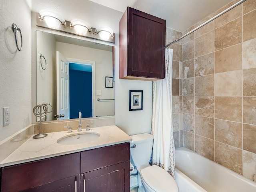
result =
M47 26L50 28L59 28L62 25L66 26L65 19L60 14L50 10L40 10L39 18L45 20Z

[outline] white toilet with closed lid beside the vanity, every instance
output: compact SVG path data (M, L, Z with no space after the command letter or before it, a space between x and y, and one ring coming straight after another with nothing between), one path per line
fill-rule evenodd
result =
M174 178L166 170L149 164L154 137L148 133L131 137L130 160L138 170L138 192L178 192Z

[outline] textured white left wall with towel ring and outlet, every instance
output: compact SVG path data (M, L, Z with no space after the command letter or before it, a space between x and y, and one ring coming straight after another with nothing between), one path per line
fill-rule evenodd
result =
M0 142L31 124L31 0L0 0ZM17 51L12 32L22 32ZM19 38L19 37L18 37ZM10 124L3 127L2 108L10 107Z

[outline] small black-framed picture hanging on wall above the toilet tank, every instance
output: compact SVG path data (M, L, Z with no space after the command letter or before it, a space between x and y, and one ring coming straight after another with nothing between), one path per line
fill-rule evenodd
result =
M130 90L129 97L129 111L136 111L143 109L143 91Z

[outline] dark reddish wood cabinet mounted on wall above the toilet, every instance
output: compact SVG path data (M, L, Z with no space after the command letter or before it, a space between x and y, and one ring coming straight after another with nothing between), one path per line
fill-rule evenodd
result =
M128 7L119 22L119 78L165 76L165 20Z

